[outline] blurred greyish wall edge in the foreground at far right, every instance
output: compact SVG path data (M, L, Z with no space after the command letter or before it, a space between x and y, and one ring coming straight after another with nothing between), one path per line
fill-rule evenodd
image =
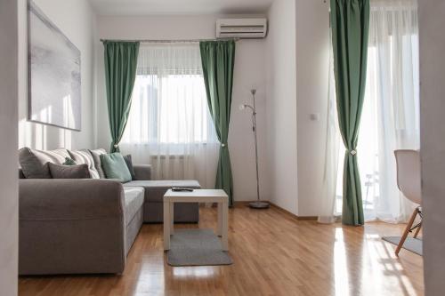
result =
M418 2L425 295L445 291L445 2Z

